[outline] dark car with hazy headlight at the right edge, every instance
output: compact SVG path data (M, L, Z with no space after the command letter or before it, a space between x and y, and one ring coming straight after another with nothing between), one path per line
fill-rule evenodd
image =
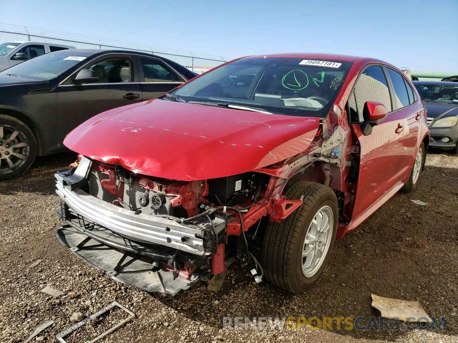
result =
M458 153L458 83L413 81L423 100L431 132L430 146Z

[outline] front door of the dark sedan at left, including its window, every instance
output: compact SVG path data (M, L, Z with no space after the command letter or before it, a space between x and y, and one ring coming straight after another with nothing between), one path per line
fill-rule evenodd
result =
M90 69L98 81L76 85L71 80L81 69ZM85 120L109 109L142 101L142 89L130 55L110 55L93 60L57 87L61 141Z

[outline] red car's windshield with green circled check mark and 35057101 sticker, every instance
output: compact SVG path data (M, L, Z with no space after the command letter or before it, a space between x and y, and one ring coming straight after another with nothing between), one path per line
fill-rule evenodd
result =
M186 102L217 102L273 113L324 118L351 62L289 57L246 58L172 92Z

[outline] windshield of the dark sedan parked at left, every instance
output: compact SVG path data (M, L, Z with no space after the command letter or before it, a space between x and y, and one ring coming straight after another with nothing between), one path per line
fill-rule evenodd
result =
M25 77L27 79L51 80L93 54L93 52L85 51L56 51L16 64L2 71L0 75L14 74L15 76Z

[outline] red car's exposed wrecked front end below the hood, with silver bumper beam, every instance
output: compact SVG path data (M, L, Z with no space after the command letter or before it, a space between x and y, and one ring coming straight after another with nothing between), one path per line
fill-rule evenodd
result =
M308 158L300 157L300 164L316 161L307 164ZM283 174L298 171L294 163L290 171L285 166L188 182L80 155L69 171L55 174L62 199L57 212L66 222L56 234L85 262L148 292L175 295L199 279L210 280L214 290L236 259L251 263L260 282L262 267L247 237L255 240L263 217L279 222L302 204L281 195ZM253 227L254 234L245 235Z

